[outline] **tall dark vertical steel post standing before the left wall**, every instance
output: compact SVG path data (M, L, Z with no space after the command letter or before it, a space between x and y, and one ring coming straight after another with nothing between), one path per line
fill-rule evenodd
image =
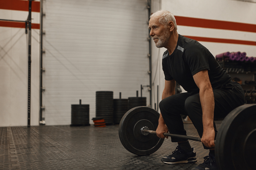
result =
M28 8L28 127L30 127L30 87L31 87L31 4L29 1Z

